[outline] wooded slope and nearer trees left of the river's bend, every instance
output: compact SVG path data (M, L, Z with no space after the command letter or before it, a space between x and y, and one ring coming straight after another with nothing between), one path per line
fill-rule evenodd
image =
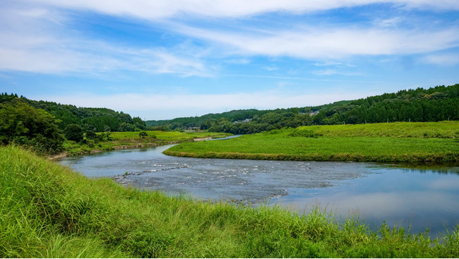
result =
M64 140L101 141L109 134L96 132L143 131L145 121L106 108L28 100L17 94L0 94L0 144L16 143L52 154L63 150Z

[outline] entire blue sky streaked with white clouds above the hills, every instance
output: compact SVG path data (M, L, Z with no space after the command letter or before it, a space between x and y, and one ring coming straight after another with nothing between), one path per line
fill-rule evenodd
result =
M2 0L0 92L144 120L459 83L458 0Z

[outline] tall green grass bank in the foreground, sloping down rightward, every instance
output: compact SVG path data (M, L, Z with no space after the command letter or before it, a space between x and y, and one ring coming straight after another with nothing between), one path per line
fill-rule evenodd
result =
M458 258L386 225L339 224L318 210L205 203L87 179L19 147L0 148L0 258Z

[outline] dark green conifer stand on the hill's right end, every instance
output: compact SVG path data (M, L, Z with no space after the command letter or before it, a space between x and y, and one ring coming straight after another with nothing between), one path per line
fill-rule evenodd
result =
M322 109L316 124L459 120L459 84L401 90Z

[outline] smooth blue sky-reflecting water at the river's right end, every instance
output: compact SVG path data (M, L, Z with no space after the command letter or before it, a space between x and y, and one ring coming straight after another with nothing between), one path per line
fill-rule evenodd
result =
M412 232L429 228L436 236L459 224L458 174L438 174L427 169L416 173L414 169L394 167L376 171L347 181L349 184L314 190L314 197L311 190L303 190L304 195L285 196L273 202L298 211L318 205L342 217L356 215L371 229L385 221L390 226L410 227Z

